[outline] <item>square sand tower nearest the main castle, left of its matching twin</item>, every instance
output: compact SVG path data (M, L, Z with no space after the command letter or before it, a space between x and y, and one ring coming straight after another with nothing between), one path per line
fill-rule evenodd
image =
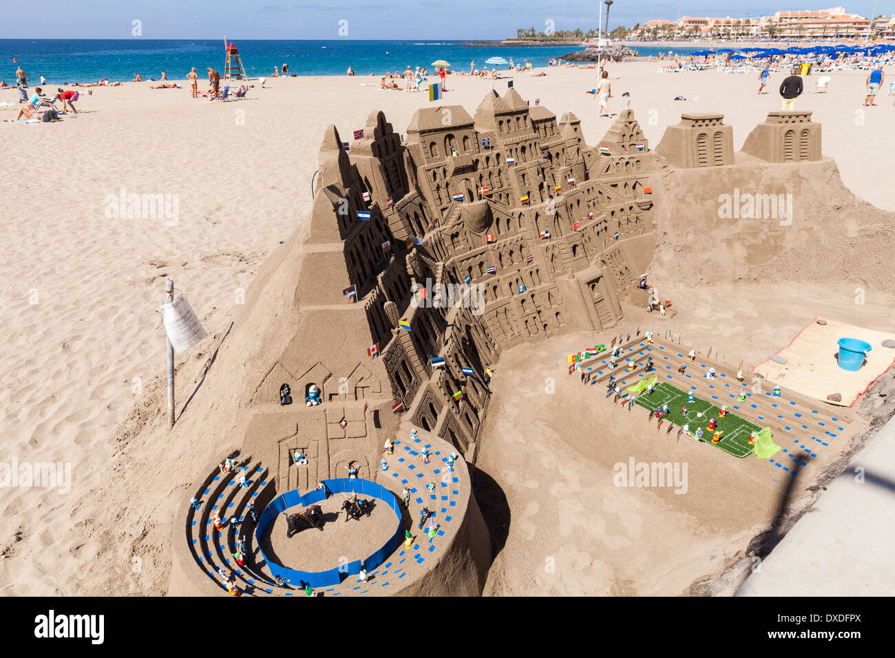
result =
M656 152L673 167L723 167L734 164L733 126L725 125L724 115L680 115L680 123L670 125Z

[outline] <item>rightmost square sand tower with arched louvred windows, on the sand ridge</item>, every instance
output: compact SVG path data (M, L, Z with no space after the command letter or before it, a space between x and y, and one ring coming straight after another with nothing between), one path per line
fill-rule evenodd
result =
M811 112L768 113L763 124L746 137L743 152L767 162L799 162L821 159L821 124L811 120Z

